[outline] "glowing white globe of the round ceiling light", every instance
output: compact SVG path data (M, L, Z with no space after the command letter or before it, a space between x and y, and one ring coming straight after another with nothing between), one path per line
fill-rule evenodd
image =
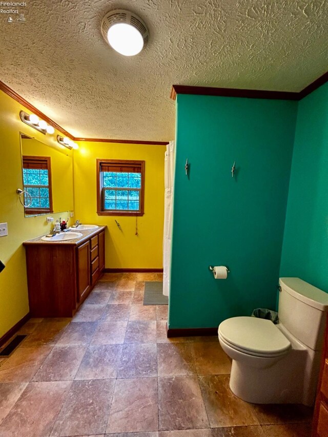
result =
M134 56L144 47L144 38L141 33L130 24L117 23L107 32L110 46L124 56Z

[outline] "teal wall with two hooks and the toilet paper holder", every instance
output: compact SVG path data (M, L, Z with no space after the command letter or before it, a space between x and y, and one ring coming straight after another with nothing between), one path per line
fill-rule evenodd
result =
M177 96L170 328L276 307L296 114L296 101Z

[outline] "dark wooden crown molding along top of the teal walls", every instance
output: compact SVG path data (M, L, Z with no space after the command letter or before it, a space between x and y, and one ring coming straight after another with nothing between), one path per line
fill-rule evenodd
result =
M177 94L194 94L203 96L221 97L248 97L257 99L278 99L278 100L301 100L303 97L312 93L328 81L328 72L324 73L312 84L305 87L302 91L262 91L262 90L241 90L237 88L215 88L215 87L193 87L189 85L173 85L171 89L171 99L175 100Z

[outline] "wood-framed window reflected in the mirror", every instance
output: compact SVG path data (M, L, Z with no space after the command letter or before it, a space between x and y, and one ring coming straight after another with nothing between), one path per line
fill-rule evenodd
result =
M51 159L49 156L23 156L23 184L26 214L52 213ZM31 197L30 197L31 196Z

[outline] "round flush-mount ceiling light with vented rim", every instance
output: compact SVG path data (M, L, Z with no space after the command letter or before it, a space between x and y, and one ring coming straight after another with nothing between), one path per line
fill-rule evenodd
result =
M101 22L101 33L106 43L124 56L140 53L149 37L142 19L124 9L115 9L105 15Z

